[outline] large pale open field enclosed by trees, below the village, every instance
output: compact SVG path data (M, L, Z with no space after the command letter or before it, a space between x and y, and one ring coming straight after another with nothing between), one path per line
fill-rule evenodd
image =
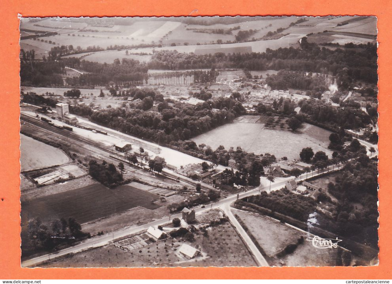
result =
M287 157L289 160L299 159L302 148L311 147L314 152L324 151L328 156L332 152L327 149L330 132L319 127L303 124L297 133L286 130L265 129L261 123L229 123L210 132L192 138L197 145L204 143L226 149L240 146L254 154L270 153L277 159Z

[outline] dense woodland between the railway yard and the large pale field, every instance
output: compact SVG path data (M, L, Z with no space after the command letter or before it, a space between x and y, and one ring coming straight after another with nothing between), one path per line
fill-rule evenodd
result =
M124 107L101 109L90 119L127 134L166 144L205 133L245 113L241 103L230 98L214 99L196 108L181 102L164 107L160 113ZM212 112L211 109L218 111Z

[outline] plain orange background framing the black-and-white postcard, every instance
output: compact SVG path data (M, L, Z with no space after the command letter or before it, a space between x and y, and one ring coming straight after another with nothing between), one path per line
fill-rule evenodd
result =
M3 0L0 44L0 279L391 279L392 193L388 177L392 89L389 0L127 1ZM198 11L194 11L197 9ZM379 211L380 264L327 268L21 268L19 191L19 19L22 16L192 16L204 15L375 15L379 42Z

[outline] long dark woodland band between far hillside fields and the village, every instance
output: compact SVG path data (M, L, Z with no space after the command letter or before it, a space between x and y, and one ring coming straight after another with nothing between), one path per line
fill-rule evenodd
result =
M337 76L338 86L347 89L353 80L377 83L377 47L368 43L352 49L330 50L302 40L301 48L267 49L246 54L196 55L177 51L155 52L149 69L246 68L249 70L283 70L316 72Z

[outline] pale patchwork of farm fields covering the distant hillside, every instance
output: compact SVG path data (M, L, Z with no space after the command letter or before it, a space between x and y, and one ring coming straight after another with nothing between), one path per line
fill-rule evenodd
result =
M114 25L108 27L96 27L94 25L87 25L81 22L69 22L61 18L47 18L45 20L33 23L28 19L22 20L21 28L32 31L56 31L57 35L41 38L44 41L51 40L55 44L40 42L40 40L25 39L20 41L22 48L30 50L35 47L37 58L42 58L47 51L53 46L68 45L70 40L74 47L80 46L85 49L89 46L100 46L107 48L110 45L138 45L141 43L162 43L167 45L160 48L139 48L132 51L152 53L152 50L177 50L178 52L196 52L199 54L208 54L214 52L264 52L267 48L277 49L279 47L289 47L295 45L298 39L309 33L322 33L325 30L329 31L348 31L354 33L376 34L376 18L365 18L359 21L348 22L348 24L337 27L336 25L352 20L358 17L337 17L337 18L309 18L307 22L297 24L289 27L292 22L295 22L295 17L270 17L263 20L245 21L236 24L214 24L214 25L187 25L181 22L163 20L163 21L149 21L148 19L136 19L132 25ZM37 26L37 25L41 25ZM271 26L270 26L271 25ZM229 29L240 26L239 30L232 31L232 34L212 34L212 33L196 33L192 29ZM288 28L283 33L284 36L278 40L267 40L258 42L243 42L231 44L211 44L216 41L222 42L235 41L235 35L238 31L245 31L249 29L258 30L252 35L252 38L262 38L268 32L274 32L278 28ZM187 30L188 29L188 30ZM89 31L91 30L91 31ZM347 42L352 42L355 39L347 38ZM172 47L172 43L179 46ZM187 43L188 45L184 45ZM196 45L199 44L199 45ZM120 52L120 53L118 53ZM102 54L95 55L94 53L86 56L86 60L96 62L111 63L116 58L131 58L126 57L124 51L109 51L103 58ZM85 54L84 54L85 55ZM74 56L84 56L76 54ZM137 59L137 58L136 58ZM148 57L138 58L140 61L149 60Z

